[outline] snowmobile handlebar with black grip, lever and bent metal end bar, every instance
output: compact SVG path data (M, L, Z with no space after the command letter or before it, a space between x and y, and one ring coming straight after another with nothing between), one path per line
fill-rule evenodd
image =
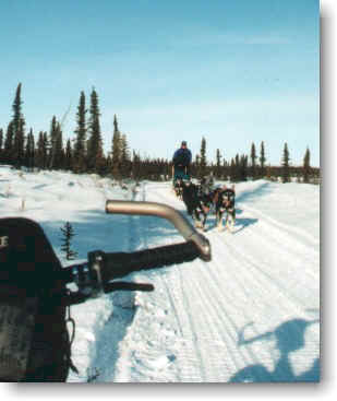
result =
M79 291L69 295L70 304L79 304L101 293L112 291L153 291L152 284L113 282L129 273L180 264L201 258L210 260L210 245L185 217L173 208L153 202L107 201L107 213L156 215L168 219L186 239L185 243L166 245L134 252L101 250L88 252L88 260L63 269L62 280L76 283Z

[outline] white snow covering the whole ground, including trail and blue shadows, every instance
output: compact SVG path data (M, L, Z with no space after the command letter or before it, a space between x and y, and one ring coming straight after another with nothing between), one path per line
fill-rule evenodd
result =
M152 293L116 292L71 307L76 322L69 382L320 380L320 187L239 182L232 233L215 216L200 259L130 274ZM87 252L183 241L166 220L105 213L107 199L185 208L170 182L122 189L109 178L0 166L0 216L40 223L64 267ZM61 251L70 222L75 261Z

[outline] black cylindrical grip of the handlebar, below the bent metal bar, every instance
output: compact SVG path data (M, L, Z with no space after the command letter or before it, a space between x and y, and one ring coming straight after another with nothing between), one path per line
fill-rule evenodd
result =
M198 258L201 251L193 241L167 245L136 252L112 252L94 251L92 257L100 261L100 273L103 283L122 278L131 272L167 267L192 261Z

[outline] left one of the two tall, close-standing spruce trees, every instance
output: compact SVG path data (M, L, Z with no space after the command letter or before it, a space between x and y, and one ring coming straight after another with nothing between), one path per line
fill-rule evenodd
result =
M82 91L76 114L77 128L75 129L76 140L74 144L75 173L83 173L86 169L86 113L85 94Z

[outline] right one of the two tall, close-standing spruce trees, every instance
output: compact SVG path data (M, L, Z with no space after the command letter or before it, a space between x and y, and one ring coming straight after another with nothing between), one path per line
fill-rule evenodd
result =
M87 165L88 169L93 173L99 173L105 163L103 153L103 141L100 134L99 125L99 107L98 96L93 89L91 94L91 108L89 108L89 121L88 121L88 149L87 149Z

